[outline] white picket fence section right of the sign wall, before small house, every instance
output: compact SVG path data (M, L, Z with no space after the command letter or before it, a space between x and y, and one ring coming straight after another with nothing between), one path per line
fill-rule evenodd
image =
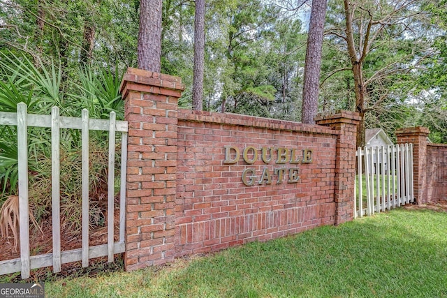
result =
M354 218L414 202L413 144L358 147L356 156Z

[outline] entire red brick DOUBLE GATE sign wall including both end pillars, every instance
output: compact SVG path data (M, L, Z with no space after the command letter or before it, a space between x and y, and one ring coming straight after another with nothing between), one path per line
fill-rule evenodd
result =
M129 68L126 270L353 216L354 113L311 126L178 110L179 77Z

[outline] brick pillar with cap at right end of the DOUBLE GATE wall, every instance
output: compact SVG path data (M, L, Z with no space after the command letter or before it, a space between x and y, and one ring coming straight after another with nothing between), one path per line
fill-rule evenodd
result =
M355 112L339 111L318 116L318 125L329 126L340 134L337 137L335 158L335 225L351 221L354 214L356 178L356 136L360 116Z

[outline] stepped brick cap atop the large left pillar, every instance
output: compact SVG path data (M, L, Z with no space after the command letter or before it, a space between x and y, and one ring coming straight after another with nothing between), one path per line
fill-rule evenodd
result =
M182 95L184 90L181 77L129 67L124 74L119 91L122 94L122 98L126 98L129 91L152 93L154 87L178 91L178 97ZM154 93L159 92L156 91Z

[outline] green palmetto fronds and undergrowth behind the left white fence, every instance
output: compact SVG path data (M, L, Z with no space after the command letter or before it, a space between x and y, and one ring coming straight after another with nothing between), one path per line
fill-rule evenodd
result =
M62 116L80 117L82 109L89 117L124 117L119 94L122 75L115 70L80 70L70 87L61 86L61 69L54 64L38 65L24 56L0 54L0 111L15 112L23 102L31 114L50 114L57 105ZM69 92L66 91L70 90ZM61 216L71 221L74 232L80 230L80 131L61 129ZM17 194L17 131L15 126L0 126L0 204ZM28 128L29 203L37 221L50 215L51 208L51 132L47 128ZM90 132L90 199L94 214L101 214L101 202L107 183L108 134ZM119 165L117 165L118 167ZM95 202L96 200L96 202ZM6 208L6 207L5 207ZM1 214L0 225L14 223L15 209ZM34 218L33 217L33 218ZM9 225L13 228L12 225ZM17 236L14 234L14 236Z

